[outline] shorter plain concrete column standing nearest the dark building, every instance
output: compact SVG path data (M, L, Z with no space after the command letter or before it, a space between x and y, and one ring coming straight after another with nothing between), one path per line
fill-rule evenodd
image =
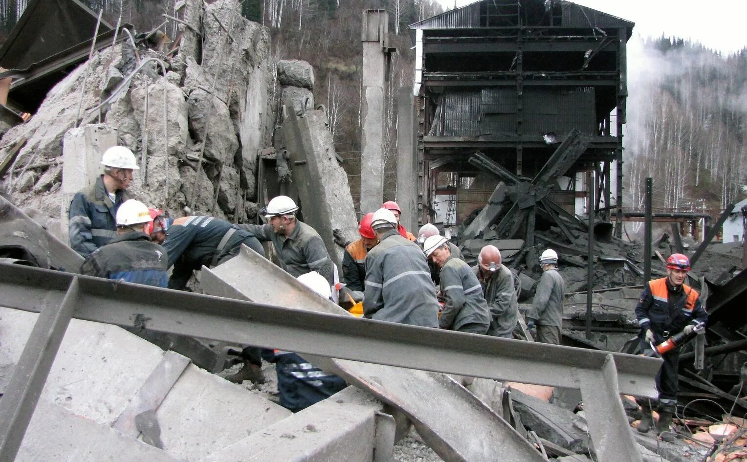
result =
M397 204L400 223L418 232L418 154L415 151L415 106L412 90L400 88L397 95Z

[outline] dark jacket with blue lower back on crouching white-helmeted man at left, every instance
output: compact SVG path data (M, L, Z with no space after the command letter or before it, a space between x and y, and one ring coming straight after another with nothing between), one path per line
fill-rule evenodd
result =
M166 262L163 247L151 242L143 232L133 231L117 236L87 256L81 265L81 274L166 287Z

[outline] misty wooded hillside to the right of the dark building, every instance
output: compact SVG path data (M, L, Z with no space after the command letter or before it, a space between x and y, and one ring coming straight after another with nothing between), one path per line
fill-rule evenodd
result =
M630 45L625 188L642 205L722 209L745 197L747 49L722 56L660 37Z

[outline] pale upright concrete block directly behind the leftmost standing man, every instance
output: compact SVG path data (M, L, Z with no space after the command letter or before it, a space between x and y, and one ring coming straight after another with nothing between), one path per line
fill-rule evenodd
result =
M62 141L61 240L67 242L67 213L75 193L96 182L104 171L101 156L117 146L117 129L105 124L89 124L69 129Z

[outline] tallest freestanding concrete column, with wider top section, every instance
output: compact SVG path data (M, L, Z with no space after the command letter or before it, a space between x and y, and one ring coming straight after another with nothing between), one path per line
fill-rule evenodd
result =
M384 198L384 114L389 49L386 10L363 10L361 212L379 209Z

